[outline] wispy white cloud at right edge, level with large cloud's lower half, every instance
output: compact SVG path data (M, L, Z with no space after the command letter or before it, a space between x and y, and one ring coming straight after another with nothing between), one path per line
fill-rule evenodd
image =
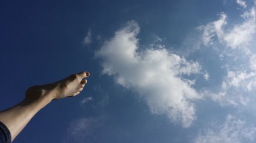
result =
M246 96L246 92L250 92L256 87L255 79L256 75L253 72L228 70L220 92L204 91L204 95L211 97L212 100L219 102L221 105L246 105L249 102L249 96Z

